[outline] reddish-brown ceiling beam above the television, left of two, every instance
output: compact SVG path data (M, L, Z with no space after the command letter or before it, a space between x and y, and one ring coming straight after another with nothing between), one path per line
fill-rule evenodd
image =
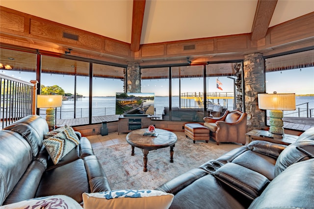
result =
M146 0L133 0L131 51L138 51L141 41Z

